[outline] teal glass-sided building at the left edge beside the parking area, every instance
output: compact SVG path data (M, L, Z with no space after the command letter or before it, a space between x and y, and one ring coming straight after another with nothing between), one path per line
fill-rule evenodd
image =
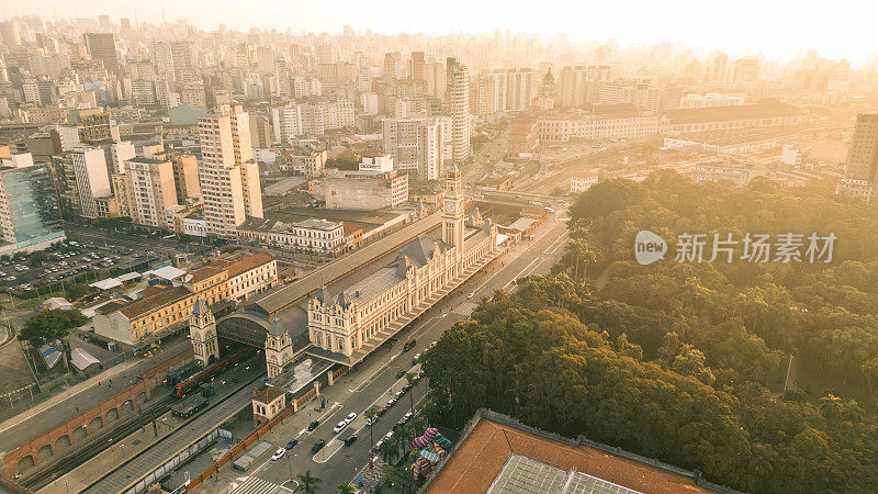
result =
M16 159L18 158L18 159ZM0 168L0 252L40 250L64 240L58 198L48 164L29 155L4 159Z

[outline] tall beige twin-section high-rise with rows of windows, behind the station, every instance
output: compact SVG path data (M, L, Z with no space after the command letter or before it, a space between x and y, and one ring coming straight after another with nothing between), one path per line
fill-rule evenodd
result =
M262 217L249 123L239 105L223 105L217 113L199 117L199 181L209 235L233 238L247 216Z

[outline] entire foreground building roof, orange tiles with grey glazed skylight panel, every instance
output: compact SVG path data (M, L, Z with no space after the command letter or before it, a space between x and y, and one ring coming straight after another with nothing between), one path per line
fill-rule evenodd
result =
M425 492L734 491L710 484L695 472L582 437L563 438L481 409L439 463Z

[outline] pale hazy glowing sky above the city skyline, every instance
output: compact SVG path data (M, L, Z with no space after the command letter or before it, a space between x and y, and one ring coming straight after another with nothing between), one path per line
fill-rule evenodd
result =
M109 14L156 22L161 7L169 22L187 19L209 30L262 27L340 33L395 34L421 32L493 32L571 40L617 40L622 45L649 45L663 40L725 49L733 54L764 53L792 58L799 48L847 58L857 65L878 49L876 0L0 0L0 16L42 14L45 19Z

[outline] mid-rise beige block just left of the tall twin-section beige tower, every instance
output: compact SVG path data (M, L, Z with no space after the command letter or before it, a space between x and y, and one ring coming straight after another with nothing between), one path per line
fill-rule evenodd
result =
M128 214L134 223L168 226L167 210L177 205L173 168L167 159L134 157L125 161Z

